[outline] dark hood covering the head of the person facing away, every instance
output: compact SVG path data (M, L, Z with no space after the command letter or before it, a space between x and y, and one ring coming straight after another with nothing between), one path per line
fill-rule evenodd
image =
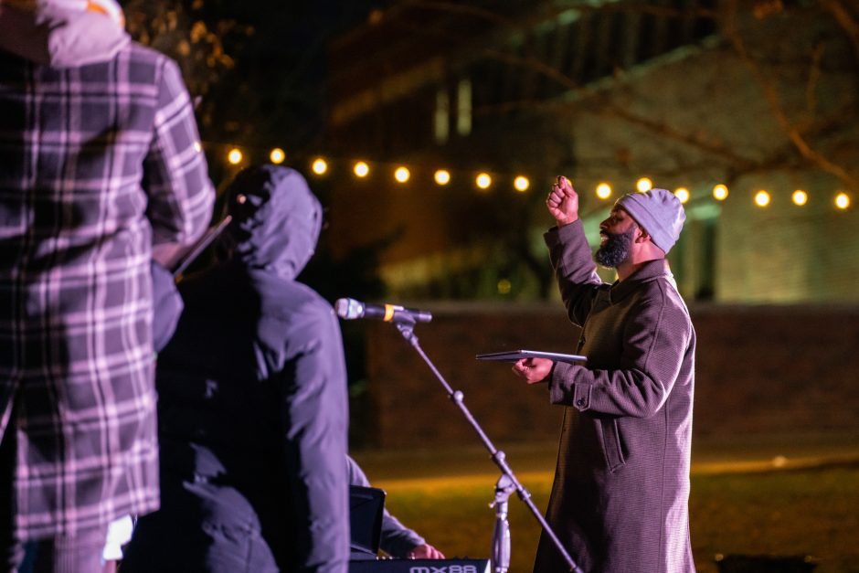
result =
M225 233L231 258L248 269L293 280L313 256L323 209L301 174L261 165L236 175L227 188Z

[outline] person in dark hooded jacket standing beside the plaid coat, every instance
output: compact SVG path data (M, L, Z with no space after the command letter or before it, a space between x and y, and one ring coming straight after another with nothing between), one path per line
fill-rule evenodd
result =
M179 284L159 355L162 507L133 571L344 573L349 556L345 360L331 306L295 281L322 208L302 175L239 173L222 257Z

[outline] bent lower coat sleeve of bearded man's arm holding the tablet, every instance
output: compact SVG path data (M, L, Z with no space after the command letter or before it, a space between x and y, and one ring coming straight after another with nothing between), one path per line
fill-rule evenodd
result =
M618 369L556 364L552 403L635 418L650 418L663 407L689 351L692 324L684 307L662 292L642 301L624 325Z

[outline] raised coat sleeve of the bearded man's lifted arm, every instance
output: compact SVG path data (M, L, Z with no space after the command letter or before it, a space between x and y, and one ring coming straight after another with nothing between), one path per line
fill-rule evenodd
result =
M602 285L581 220L549 229L544 239L567 316L573 324L581 326Z

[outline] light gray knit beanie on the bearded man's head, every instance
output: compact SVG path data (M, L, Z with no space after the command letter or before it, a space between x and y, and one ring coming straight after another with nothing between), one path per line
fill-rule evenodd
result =
M665 254L680 238L686 214L680 199L671 191L651 189L644 193L627 193L615 205L629 213Z

